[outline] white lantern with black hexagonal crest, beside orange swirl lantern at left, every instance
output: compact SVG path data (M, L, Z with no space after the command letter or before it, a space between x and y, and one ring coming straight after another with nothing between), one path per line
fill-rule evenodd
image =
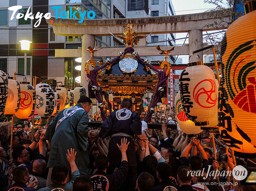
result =
M50 85L46 83L38 83L36 85L36 109L37 114L44 117L49 117L54 111L55 96Z

